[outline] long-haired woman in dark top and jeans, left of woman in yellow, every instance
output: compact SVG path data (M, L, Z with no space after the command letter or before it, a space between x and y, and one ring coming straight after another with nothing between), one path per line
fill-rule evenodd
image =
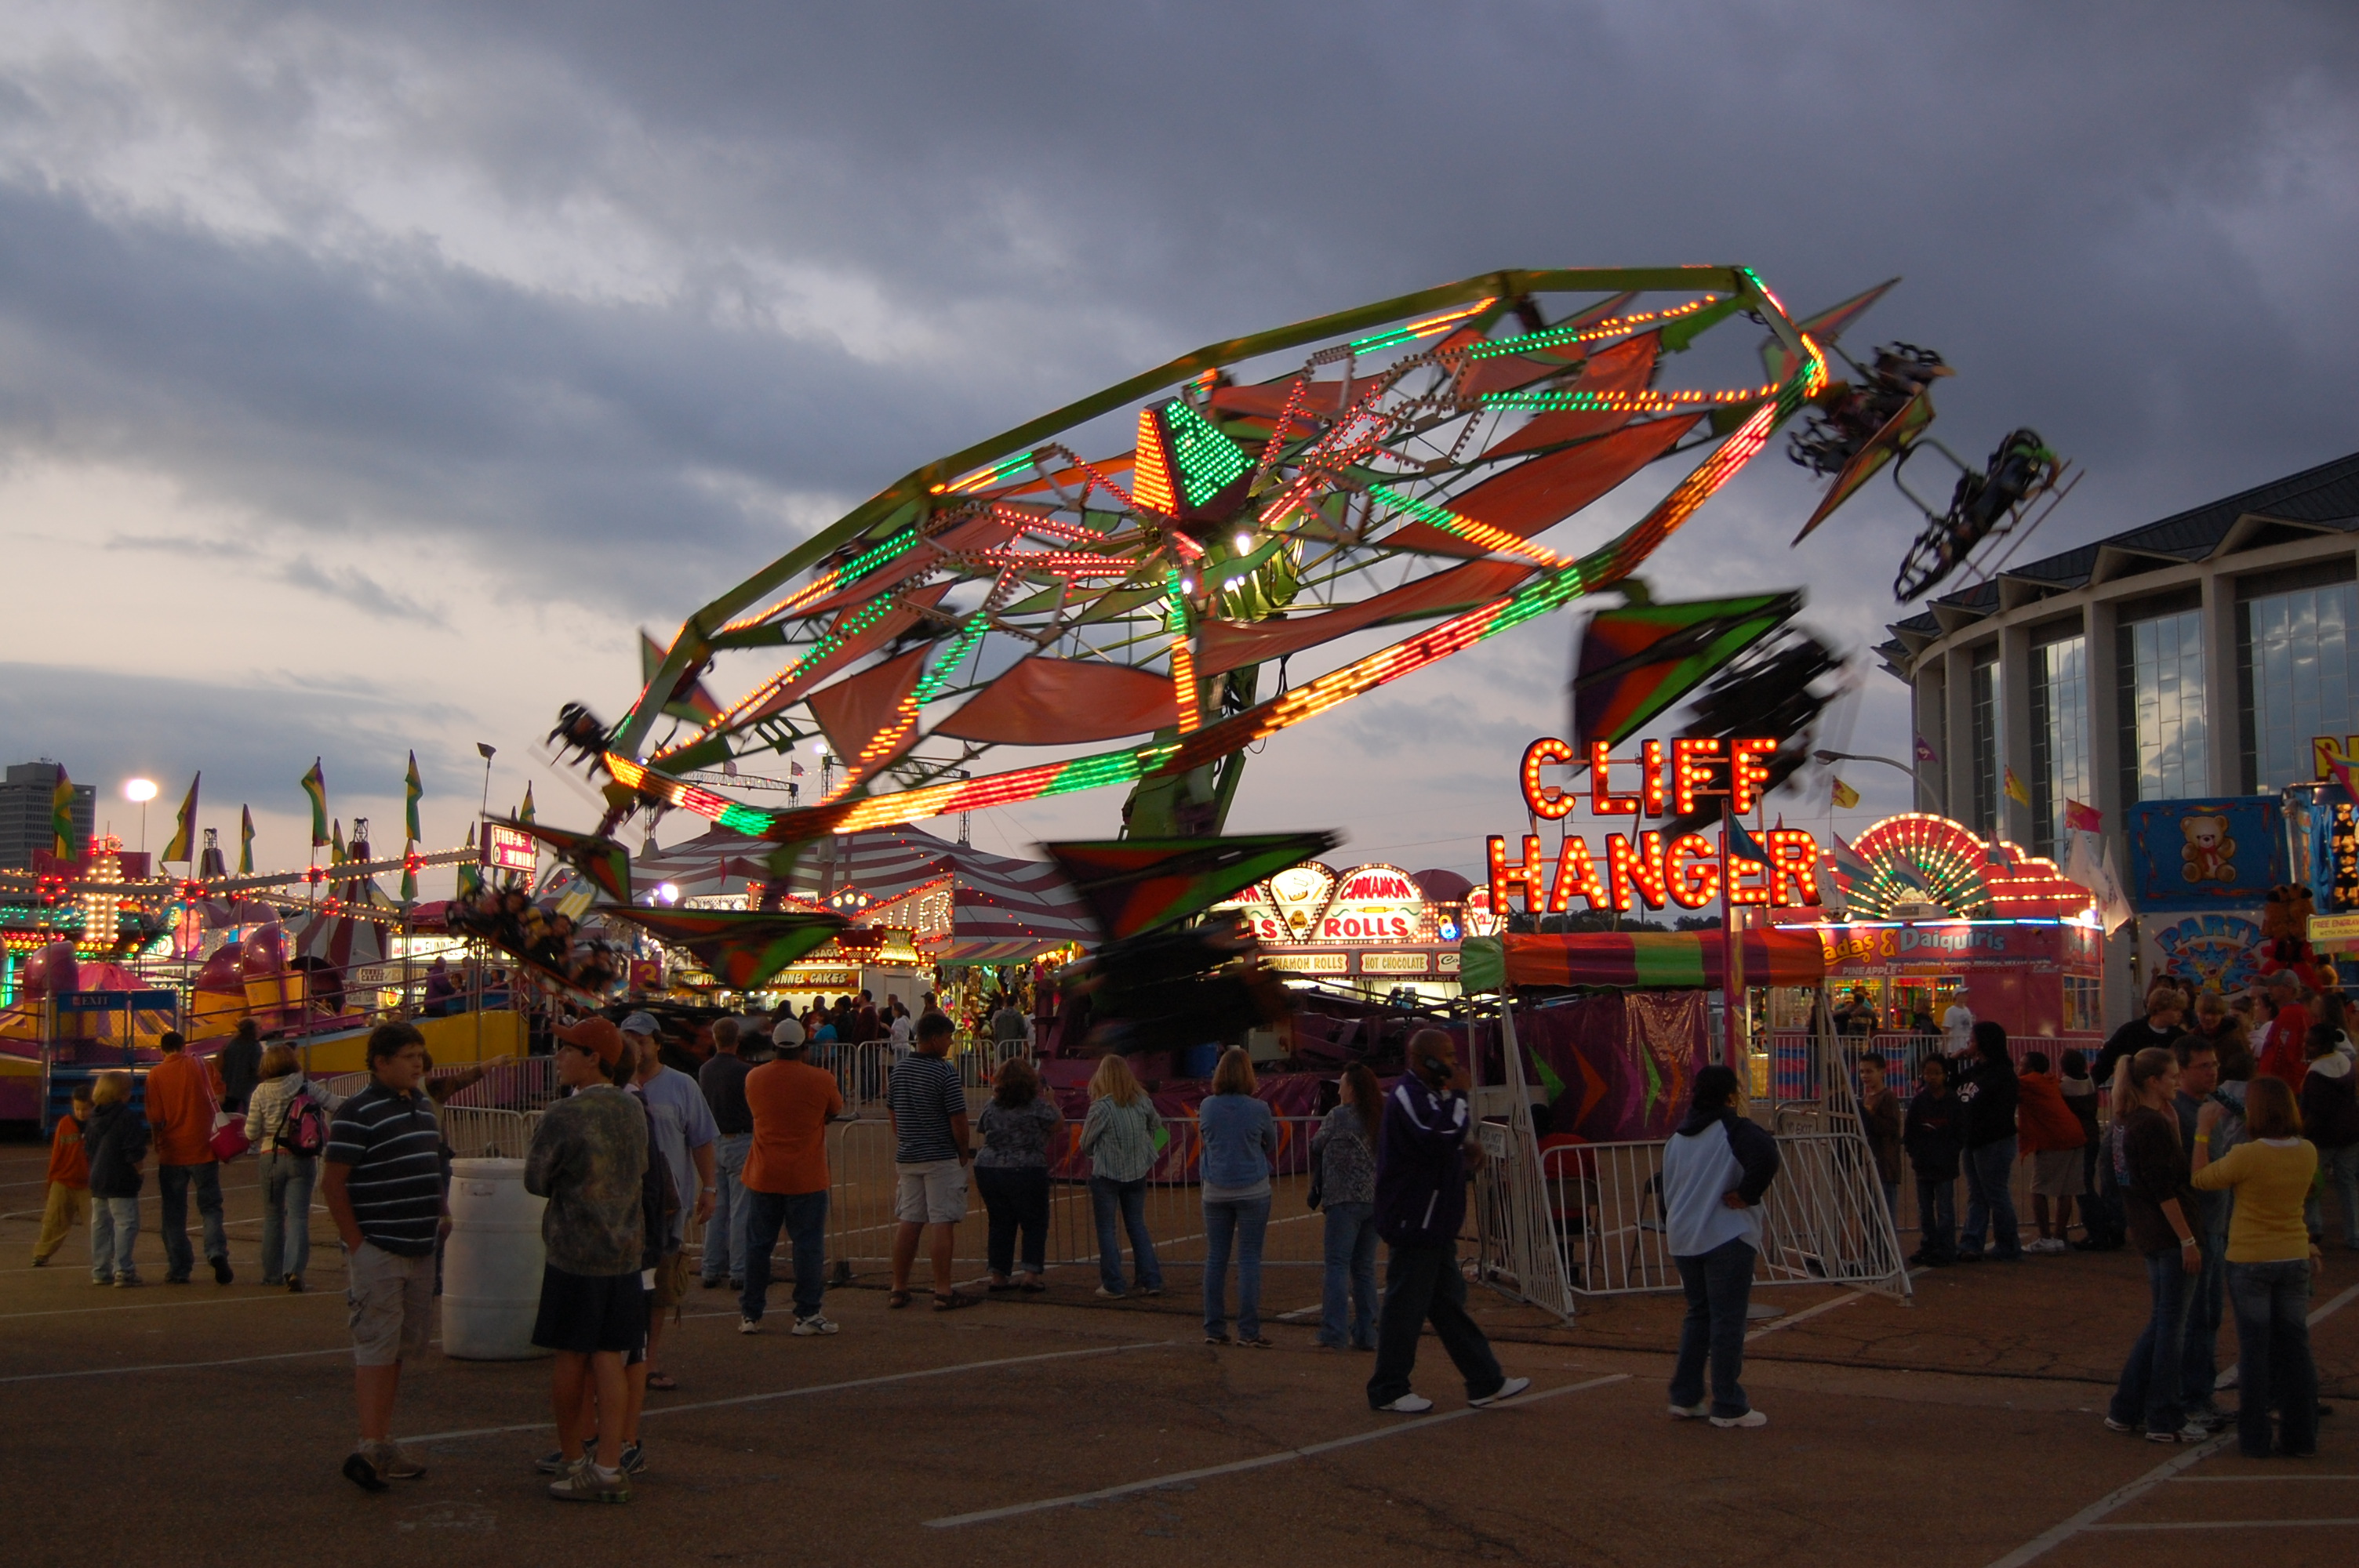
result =
M2149 1045L2114 1066L2114 1120L2121 1127L2116 1172L2130 1245L2147 1254L2147 1327L2121 1368L2104 1424L2144 1427L2149 1443L2201 1443L2210 1429L2187 1419L2180 1365L2187 1346L2187 1299L2203 1273L2203 1243L2189 1219L2187 1151L2170 1096L2180 1092L2180 1061Z

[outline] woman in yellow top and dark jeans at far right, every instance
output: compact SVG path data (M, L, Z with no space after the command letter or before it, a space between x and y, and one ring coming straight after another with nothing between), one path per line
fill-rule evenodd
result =
M2210 1158L2220 1101L2196 1118L2194 1184L2236 1188L2227 1228L2227 1294L2236 1309L2236 1443L2248 1460L2269 1457L2269 1410L2276 1410L2276 1450L2286 1457L2319 1452L2319 1368L2309 1358L2309 1276L2319 1250L2302 1224L2302 1200L2319 1170L2317 1146L2302 1141L2293 1089L2255 1078L2243 1118L2250 1141Z

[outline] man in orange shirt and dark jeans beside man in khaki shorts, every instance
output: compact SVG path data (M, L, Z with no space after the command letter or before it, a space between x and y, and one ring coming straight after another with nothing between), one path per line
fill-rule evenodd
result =
M745 1290L738 1297L738 1332L760 1335L769 1306L769 1250L778 1228L795 1247L795 1332L833 1335L835 1323L819 1311L828 1266L828 1122L845 1113L835 1073L804 1061L802 1026L783 1019L769 1033L778 1047L745 1075L745 1108L753 1111L753 1148L745 1151Z

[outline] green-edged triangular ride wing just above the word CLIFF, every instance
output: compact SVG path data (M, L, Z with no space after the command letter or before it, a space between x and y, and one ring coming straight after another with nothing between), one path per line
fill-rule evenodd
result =
M1576 740L1628 740L1800 608L1802 594L1753 594L1590 615L1573 670Z

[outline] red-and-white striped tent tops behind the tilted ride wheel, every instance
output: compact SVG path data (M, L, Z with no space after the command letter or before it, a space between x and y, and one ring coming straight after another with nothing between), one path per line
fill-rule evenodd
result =
M767 882L762 849L755 839L712 828L686 844L632 856L632 887L644 891L670 882L682 898L743 894L748 884ZM951 931L929 931L920 943L937 962L1012 964L1099 938L1087 908L1047 861L998 856L915 828L821 839L802 854L786 891L821 905L854 891L873 913L880 903L937 887L951 891Z

